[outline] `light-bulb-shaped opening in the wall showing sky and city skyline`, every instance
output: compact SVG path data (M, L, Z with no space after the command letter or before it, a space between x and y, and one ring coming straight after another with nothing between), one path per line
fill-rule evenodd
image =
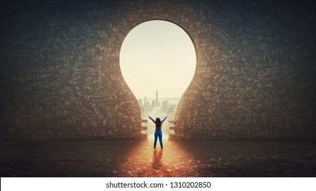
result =
M163 123L163 139L175 133L170 129L174 123L168 121L176 119L179 101L192 83L197 67L196 55L189 33L170 20L140 23L122 42L120 70L139 102L142 119L148 120L147 130L141 133L147 134L149 140L153 139L155 124L148 116L163 119L168 115ZM174 82L176 80L179 81ZM155 92L156 98L153 98Z

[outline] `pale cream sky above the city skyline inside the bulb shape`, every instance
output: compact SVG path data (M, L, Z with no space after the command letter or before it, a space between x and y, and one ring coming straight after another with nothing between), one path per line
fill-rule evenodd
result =
M120 50L120 69L137 99L181 98L196 70L196 52L181 27L150 20L132 29Z

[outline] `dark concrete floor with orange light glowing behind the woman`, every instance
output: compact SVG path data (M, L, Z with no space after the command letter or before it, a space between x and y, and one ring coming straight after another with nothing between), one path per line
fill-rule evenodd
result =
M316 177L302 141L0 143L1 177Z

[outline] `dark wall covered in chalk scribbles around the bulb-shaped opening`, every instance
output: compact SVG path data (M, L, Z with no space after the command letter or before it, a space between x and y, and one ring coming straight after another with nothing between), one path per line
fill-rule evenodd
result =
M1 139L144 138L120 46L154 19L183 27L197 67L174 138L313 139L309 1L13 1L1 5Z

